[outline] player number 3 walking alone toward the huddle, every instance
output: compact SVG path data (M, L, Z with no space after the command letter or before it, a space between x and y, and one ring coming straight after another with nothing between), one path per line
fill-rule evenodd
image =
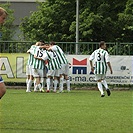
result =
M101 97L105 96L102 85L104 85L107 91L107 95L110 96L111 92L105 80L107 66L109 67L111 74L113 73L113 71L109 60L109 54L106 51L106 43L104 41L101 41L99 43L99 49L95 50L91 54L89 60L90 60L91 71L94 72L95 74L95 80L97 81L98 89L101 92ZM95 67L93 66L93 60Z

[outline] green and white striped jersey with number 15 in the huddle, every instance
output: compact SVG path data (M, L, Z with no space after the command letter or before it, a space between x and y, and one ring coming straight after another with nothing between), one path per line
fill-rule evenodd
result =
M32 47L30 49L30 53L36 56L41 56L42 55L42 51L39 49L39 46L34 45L34 47ZM33 60L33 64L32 64L32 68L36 68L36 69L44 69L45 68L45 64L43 60L39 60L37 58L34 58Z

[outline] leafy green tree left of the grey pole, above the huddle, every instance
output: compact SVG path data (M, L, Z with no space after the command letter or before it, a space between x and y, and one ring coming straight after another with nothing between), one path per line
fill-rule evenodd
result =
M49 0L39 3L38 11L20 25L26 40L70 41L69 26L74 21L75 2Z

